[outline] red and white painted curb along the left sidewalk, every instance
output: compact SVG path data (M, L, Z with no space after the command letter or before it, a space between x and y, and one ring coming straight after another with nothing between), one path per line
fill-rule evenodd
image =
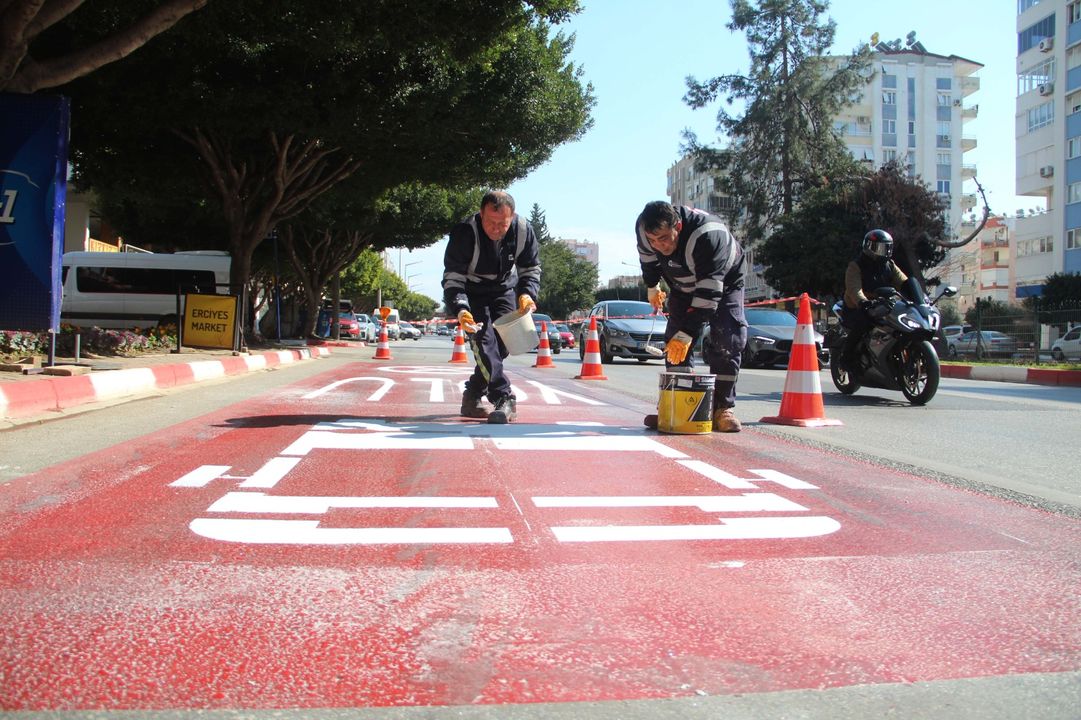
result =
M110 370L89 375L42 377L29 383L4 383L0 384L0 417L4 419L29 417L45 412L67 410L88 402L128 398L151 390L322 358L330 352L329 348L322 346L305 347L232 356L221 360Z

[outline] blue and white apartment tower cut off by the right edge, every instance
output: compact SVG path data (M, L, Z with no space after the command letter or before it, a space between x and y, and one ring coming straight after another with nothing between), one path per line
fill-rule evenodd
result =
M1016 194L1046 211L1017 217L1015 297L1081 272L1081 2L1018 0Z

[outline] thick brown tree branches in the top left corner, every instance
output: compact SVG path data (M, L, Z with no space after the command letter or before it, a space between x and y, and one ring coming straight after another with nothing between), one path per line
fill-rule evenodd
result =
M81 78L126 57L206 2L95 3L109 5L109 12L93 18L104 22L93 22L83 43L72 43L61 26L92 22L90 13L78 12L81 1L0 2L0 91L29 94Z

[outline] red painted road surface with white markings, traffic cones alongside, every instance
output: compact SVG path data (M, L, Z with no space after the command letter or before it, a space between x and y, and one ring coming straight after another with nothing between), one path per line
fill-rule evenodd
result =
M1077 521L605 383L364 362L0 486L0 707L667 698L1081 669ZM823 430L828 432L828 430Z

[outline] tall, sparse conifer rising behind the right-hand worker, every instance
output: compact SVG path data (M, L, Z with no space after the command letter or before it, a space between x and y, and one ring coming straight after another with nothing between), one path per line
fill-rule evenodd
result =
M829 58L836 24L823 16L822 0L731 0L728 28L747 37L747 75L686 79L684 102L702 108L724 96L745 111L718 110L724 149L685 135L686 149L703 169L719 171L721 188L735 198L730 214L749 240L762 238L774 221L790 214L800 197L827 178L850 175L854 161L832 119L866 84L870 48Z

